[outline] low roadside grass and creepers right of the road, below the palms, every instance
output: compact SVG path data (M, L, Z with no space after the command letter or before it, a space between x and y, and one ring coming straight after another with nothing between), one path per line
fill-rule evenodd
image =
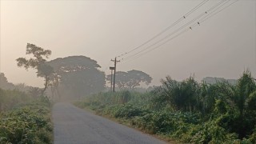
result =
M234 109L223 108L221 100L215 101L213 112L203 115L172 110L164 105L155 109L150 98L154 100L149 93L116 92L112 96L99 93L74 102L74 105L170 143L255 143L255 128L253 134L240 139L238 134L228 129L238 113Z

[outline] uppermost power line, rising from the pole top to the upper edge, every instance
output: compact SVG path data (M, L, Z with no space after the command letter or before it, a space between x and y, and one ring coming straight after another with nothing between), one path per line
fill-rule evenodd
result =
M126 54L130 54L131 52L133 52L134 50L139 49L142 46L145 46L147 43L149 43L150 41L154 40L154 38L157 38L158 36L160 36L161 34L165 33L167 30L170 30L170 28L172 28L173 26L177 25L179 22L182 22L183 19L185 19L186 17L188 17L190 14L192 14L195 10L198 10L199 7L203 6L206 2L208 2L209 0L204 0L202 2L200 2L198 4L198 6L195 6L192 10L190 10L189 12L187 12L185 15L182 16L182 18L179 18L176 22L174 22L172 25L166 27L166 29L160 31L158 34L154 35L154 37L150 38L149 40L147 40L146 42L143 42L140 46L135 47L133 50L130 50L124 54L118 55L117 58L122 57Z

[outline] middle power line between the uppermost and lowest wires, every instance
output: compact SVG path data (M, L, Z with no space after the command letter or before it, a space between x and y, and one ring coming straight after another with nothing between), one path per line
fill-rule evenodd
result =
M226 2L229 2L229 1L230 1L230 0L228 0L228 1L222 0L221 2L218 2L218 4L212 6L210 9L208 9L208 10L206 10L204 13L200 14L197 18L194 18L194 19L192 19L190 22L187 22L186 24L184 24L183 26L181 26L180 28L178 28L178 30L174 30L171 34L168 34L166 37L164 37L164 38L158 40L157 42L154 42L152 45L147 46L146 48L144 48L144 49L138 51L137 53L132 54L132 55L127 56L126 58L122 58L122 59L126 60L126 59L128 59L128 58L134 58L134 56L136 57L138 54L142 53L142 52L145 51L145 50L150 49L150 47L157 45L159 42L164 41L166 38L170 38L170 37L173 36L174 34L177 34L180 30L186 28L186 26L189 26L191 23L196 22L199 18L202 18L202 16L212 13L212 12L213 12L212 10L214 10L215 8L217 8L216 10L218 10L218 8L221 7L220 5L222 5L222 4L225 5ZM190 26L190 29L191 29L191 26ZM182 33L183 33L183 32L182 32ZM180 34L178 33L178 35L180 35ZM174 36L174 37L176 38L177 36ZM174 38L170 38L170 39L174 39ZM169 42L169 41L170 41L170 40L167 40L167 42ZM166 42L164 42L164 43L166 43ZM162 45L161 45L161 46L162 46ZM157 47L158 47L158 46L157 46ZM151 51L151 50L150 50L150 51ZM147 52L146 52L146 53L147 53ZM144 53L143 53L143 54L144 54ZM140 55L142 55L142 54L140 54Z

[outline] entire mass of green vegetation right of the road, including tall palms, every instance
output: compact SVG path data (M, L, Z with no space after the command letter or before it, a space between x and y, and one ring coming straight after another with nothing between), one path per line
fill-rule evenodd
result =
M145 94L100 93L75 105L178 142L256 143L256 84L249 71L236 85L167 77Z

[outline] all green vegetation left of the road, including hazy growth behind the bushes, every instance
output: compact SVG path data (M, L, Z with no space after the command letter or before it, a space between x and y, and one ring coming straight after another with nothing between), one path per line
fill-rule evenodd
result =
M52 131L48 98L0 89L0 143L52 143Z

